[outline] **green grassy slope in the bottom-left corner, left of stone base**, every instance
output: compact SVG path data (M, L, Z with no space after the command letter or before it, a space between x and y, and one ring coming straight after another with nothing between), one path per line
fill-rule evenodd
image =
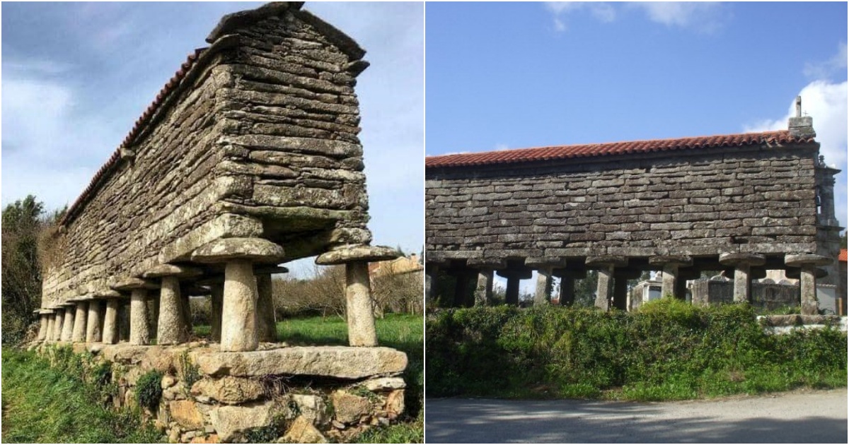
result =
M108 385L81 378L103 379L103 370L83 371L79 357L57 353L51 366L36 353L3 348L3 442L158 442L138 413L107 405Z

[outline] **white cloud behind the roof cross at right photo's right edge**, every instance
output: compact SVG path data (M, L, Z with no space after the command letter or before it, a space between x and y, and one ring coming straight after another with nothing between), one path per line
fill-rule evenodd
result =
M812 116L813 129L817 131L819 153L825 163L841 171L835 178L835 212L841 224L846 225L846 81L812 81L801 89L802 112ZM790 101L787 114L777 120L762 120L746 125L745 131L770 131L787 128L787 120L796 115L796 101Z

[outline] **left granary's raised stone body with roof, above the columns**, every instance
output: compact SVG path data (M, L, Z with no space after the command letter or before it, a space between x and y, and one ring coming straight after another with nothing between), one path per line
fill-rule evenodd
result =
M353 89L368 64L300 8L228 16L183 64L48 243L42 307L219 238L265 238L284 260L371 241Z

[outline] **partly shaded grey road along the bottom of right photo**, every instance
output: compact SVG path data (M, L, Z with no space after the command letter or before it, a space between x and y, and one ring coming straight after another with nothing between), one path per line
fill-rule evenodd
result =
M846 388L664 403L429 398L425 442L846 443Z

